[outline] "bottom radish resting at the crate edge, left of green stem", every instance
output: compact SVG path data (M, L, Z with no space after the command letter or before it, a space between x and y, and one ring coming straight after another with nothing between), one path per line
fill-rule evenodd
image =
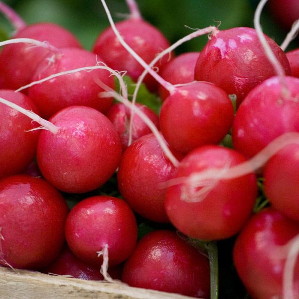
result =
M125 262L129 286L210 298L208 258L175 232L157 230L143 237Z

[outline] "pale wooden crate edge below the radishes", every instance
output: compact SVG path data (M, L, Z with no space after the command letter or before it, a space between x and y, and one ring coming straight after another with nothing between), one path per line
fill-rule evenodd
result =
M132 288L125 284L84 281L0 267L0 299L190 299Z

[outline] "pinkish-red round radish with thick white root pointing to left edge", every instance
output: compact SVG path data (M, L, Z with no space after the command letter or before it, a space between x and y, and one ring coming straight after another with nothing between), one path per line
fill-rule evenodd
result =
M104 184L118 167L122 146L109 119L84 106L71 106L50 121L58 133L42 131L37 162L53 186L70 193L88 192Z

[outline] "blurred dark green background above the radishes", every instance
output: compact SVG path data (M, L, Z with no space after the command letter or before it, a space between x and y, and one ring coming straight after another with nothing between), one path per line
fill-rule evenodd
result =
M108 19L100 0L4 0L29 24L50 21L72 31L86 49L91 49L101 30L108 26ZM253 27L254 10L258 0L137 0L144 19L158 27L175 42L191 32L190 28L218 25L220 29L234 26ZM107 0L115 21L128 14L125 0ZM261 23L265 33L279 44L287 34L265 7ZM190 27L187 28L186 26ZM9 22L0 16L0 39L13 33ZM200 51L207 41L206 36L197 37L176 49ZM299 45L294 40L288 49Z

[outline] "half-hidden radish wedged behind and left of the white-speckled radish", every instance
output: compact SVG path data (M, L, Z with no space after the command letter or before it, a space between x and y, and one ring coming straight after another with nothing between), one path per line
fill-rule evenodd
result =
M171 84L192 82L198 56L199 52L186 52L174 57L165 65L161 77ZM158 94L162 101L169 96L169 92L163 86L159 86Z

